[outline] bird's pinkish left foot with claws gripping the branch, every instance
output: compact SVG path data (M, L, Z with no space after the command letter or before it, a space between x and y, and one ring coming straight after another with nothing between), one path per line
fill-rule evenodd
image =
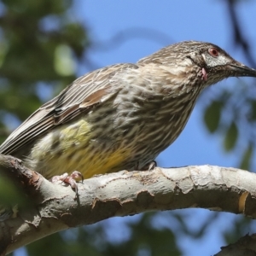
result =
M52 183L67 183L67 184L69 184L71 186L71 188L74 189L76 192L76 196L74 198L74 199L76 199L78 196L78 191L79 191L78 184L76 182L76 179L78 179L78 178L81 178L82 183L83 183L84 177L83 177L82 173L78 172L78 171L74 171L70 175L68 175L68 173L66 172L66 173L63 173L62 175L54 176L50 179L50 181Z

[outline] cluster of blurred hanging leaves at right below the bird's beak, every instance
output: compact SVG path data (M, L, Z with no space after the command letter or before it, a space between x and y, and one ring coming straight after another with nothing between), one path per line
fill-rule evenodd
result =
M236 152L237 166L253 171L256 147L256 83L255 79L250 80L251 84L240 80L232 84L230 90L218 90L216 94L206 90L203 97L208 104L203 113L207 130L222 137L226 152Z

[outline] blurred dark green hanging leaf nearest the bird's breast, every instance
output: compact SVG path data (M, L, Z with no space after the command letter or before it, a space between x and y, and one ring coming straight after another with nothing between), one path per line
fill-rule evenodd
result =
M214 101L209 105L204 114L204 120L210 132L217 131L223 102Z

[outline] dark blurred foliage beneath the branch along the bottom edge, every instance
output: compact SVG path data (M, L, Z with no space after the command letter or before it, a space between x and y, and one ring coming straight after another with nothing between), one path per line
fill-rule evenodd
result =
M181 255L177 249L175 236L171 230L156 230L152 227L151 218L154 213L146 213L135 223L127 224L123 230L116 230L125 239L113 241L106 230L108 221L94 224L84 228L67 230L48 236L44 240L34 242L27 246L30 255L38 255L38 251L48 249L51 255ZM114 232L112 230L112 232ZM127 232L128 234L122 234ZM53 242L55 241L55 242Z

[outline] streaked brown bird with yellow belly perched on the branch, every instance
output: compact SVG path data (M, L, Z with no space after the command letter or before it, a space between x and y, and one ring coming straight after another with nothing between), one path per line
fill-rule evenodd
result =
M184 41L84 74L32 113L0 146L50 178L143 171L183 131L201 91L256 77L215 44Z

